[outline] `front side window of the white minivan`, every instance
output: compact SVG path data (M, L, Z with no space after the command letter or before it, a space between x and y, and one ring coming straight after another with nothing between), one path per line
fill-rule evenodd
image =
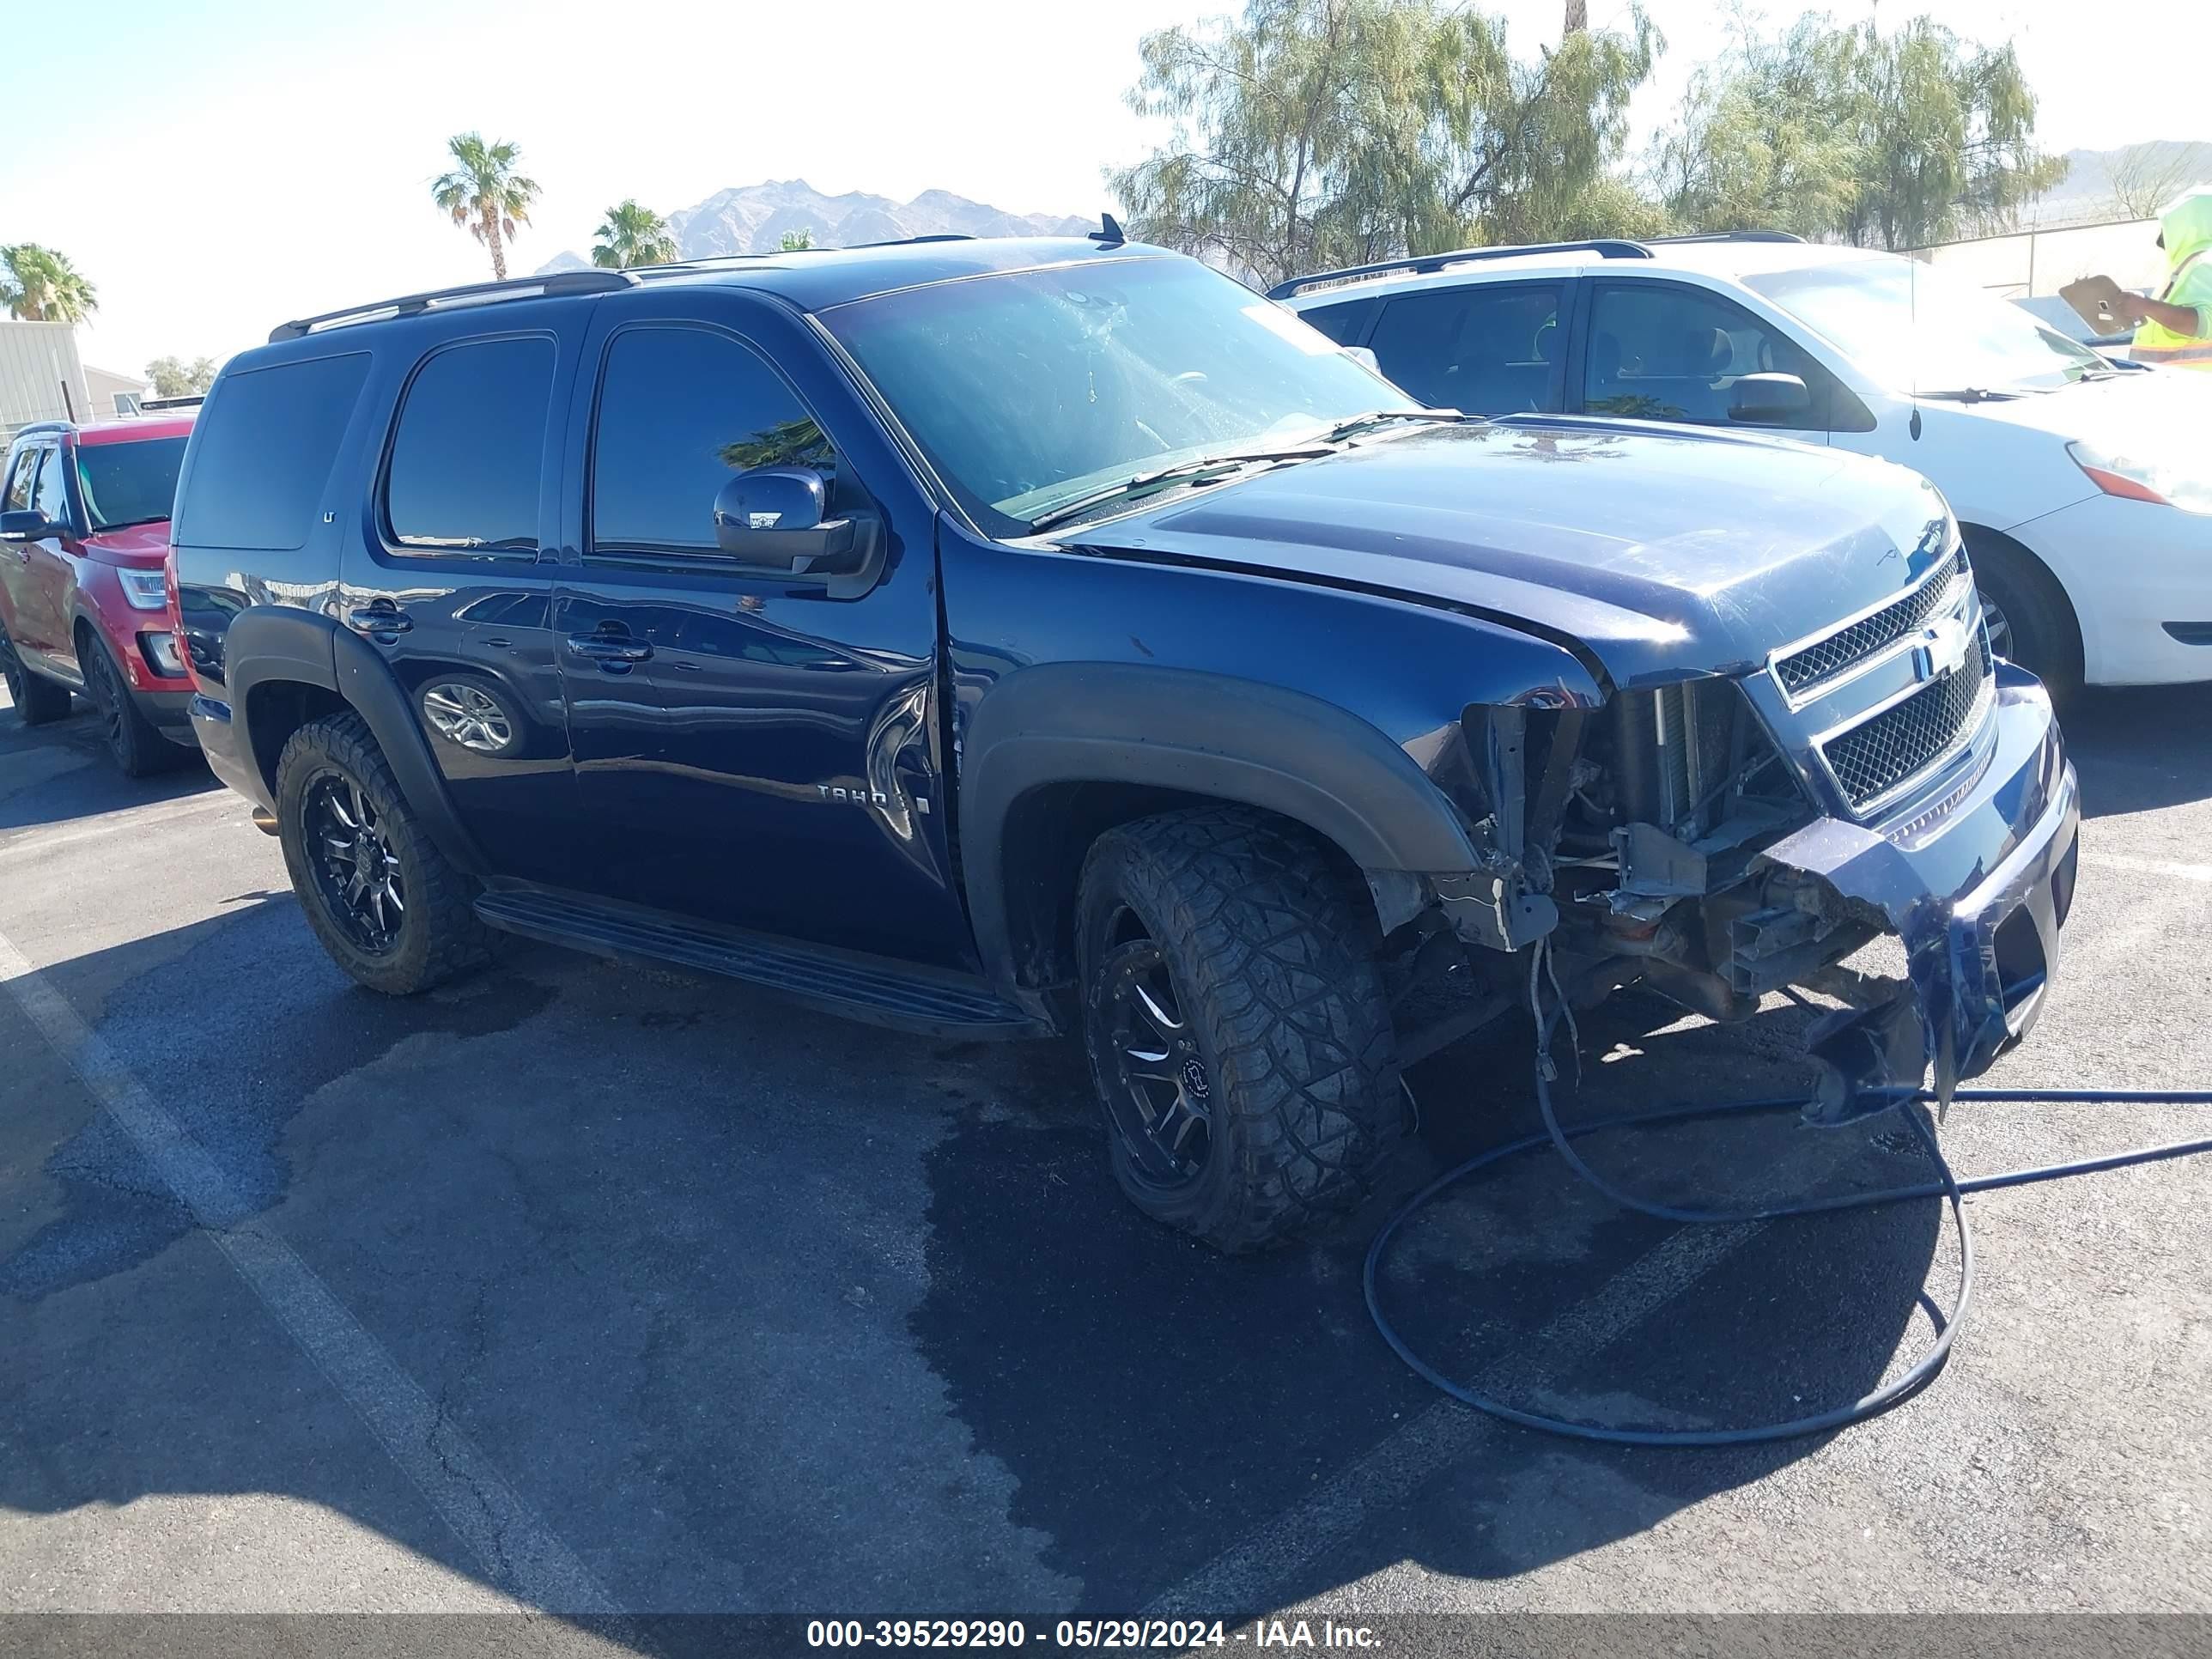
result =
M1827 431L1832 387L1798 345L1741 305L1677 283L1604 283L1590 305L1582 407L1637 420L1725 427L1745 374L1794 374L1812 405L1774 431Z

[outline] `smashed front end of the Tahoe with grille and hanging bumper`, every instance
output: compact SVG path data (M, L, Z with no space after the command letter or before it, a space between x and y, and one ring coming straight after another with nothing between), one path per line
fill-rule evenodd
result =
M1809 1037L1812 1121L1929 1079L1949 1099L2042 1009L2077 783L2044 688L1989 653L1955 531L1902 593L1752 672L1601 710L1471 708L1462 734L1453 794L1486 805L1498 869L1438 889L1458 938L1548 938L1577 1000L1644 982L1714 1020L1774 991L1843 1002ZM1880 936L1902 975L1843 967Z

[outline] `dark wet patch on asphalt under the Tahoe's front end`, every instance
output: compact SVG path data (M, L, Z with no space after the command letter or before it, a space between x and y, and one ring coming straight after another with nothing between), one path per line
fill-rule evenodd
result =
M1796 1093L1805 1071L1785 1051L1801 1022L1717 1029L1621 998L1584 1018L1588 1088L1564 1113ZM1088 1606L1254 1613L1405 1559L1506 1577L1818 1444L1564 1442L1462 1413L1383 1347L1360 1301L1365 1245L1436 1172L1540 1128L1531 1048L1515 1018L1422 1066L1420 1146L1385 1188L1343 1232L1256 1261L1144 1225L1097 1179L1082 1113L969 1113L938 1146L914 1329L978 1447L1020 1478L1013 1515L1053 1540L1044 1559L1082 1579ZM1048 1084L1035 1093L1079 1095L1066 1055L1031 1064ZM1582 1150L1630 1188L1714 1208L1931 1172L1893 1117L1820 1133L1785 1113ZM1416 1217L1383 1294L1431 1365L1522 1409L1759 1425L1849 1402L1924 1352L1931 1272L1949 1296L1938 1234L1931 1203L1683 1230L1621 1212L1542 1148ZM1436 1467L1409 1480L1405 1451Z

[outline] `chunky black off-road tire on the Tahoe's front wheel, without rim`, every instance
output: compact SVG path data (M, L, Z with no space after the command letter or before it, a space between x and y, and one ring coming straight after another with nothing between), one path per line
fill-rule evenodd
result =
M1232 1254L1349 1210L1405 1126L1365 887L1296 825L1241 807L1170 812L1099 836L1082 872L1077 951L1102 1102L1119 1086L1104 1035L1104 929L1124 907L1164 947L1212 1106L1203 1168L1170 1188L1144 1179L1108 1113L1121 1190Z

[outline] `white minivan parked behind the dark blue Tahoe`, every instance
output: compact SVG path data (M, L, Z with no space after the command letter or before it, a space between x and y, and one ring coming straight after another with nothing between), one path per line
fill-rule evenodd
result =
M1429 405L1911 467L1960 518L1991 644L2053 690L2212 679L2212 374L2115 365L1918 261L1781 232L1478 248L1272 296Z

